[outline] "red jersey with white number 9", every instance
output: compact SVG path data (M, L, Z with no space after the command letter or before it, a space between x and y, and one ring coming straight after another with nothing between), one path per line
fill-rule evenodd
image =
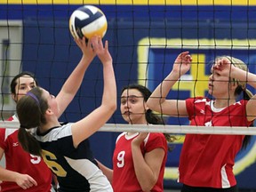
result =
M115 192L139 192L142 191L137 180L133 161L132 161L132 140L138 136L135 133L131 136L126 132L121 133L116 139L116 148L113 155L113 179L112 187ZM142 154L154 150L155 148L164 148L164 159L161 164L158 180L151 192L164 191L164 167L167 160L167 141L163 133L148 133L148 137L141 143L140 149Z

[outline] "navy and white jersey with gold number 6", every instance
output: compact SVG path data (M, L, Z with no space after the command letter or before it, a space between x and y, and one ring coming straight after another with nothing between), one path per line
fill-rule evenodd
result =
M44 162L58 178L60 192L113 191L92 155L89 140L74 148L71 124L53 127L34 136L43 149Z

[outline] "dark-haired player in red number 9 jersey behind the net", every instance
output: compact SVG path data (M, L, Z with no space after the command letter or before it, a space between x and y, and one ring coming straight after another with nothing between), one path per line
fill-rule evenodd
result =
M147 107L151 92L140 84L125 86L121 92L120 110L129 124L162 124ZM164 191L164 168L167 141L175 138L156 132L123 132L116 139L113 171L103 164L100 169L112 181L115 192Z

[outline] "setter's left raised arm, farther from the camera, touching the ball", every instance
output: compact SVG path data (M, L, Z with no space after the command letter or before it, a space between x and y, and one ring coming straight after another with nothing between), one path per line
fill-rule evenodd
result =
M95 52L93 52L90 40L87 44L85 43L85 38L76 38L75 41L83 52L83 57L71 75L68 76L67 81L65 84L63 84L59 94L56 97L59 107L58 117L62 115L63 111L68 107L68 104L75 97L76 92L83 82L84 73L95 57Z

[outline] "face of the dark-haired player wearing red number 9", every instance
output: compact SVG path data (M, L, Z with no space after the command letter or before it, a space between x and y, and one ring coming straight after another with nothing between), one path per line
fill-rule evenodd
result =
M124 90L121 95L120 110L122 116L129 124L147 124L146 102L137 89Z

